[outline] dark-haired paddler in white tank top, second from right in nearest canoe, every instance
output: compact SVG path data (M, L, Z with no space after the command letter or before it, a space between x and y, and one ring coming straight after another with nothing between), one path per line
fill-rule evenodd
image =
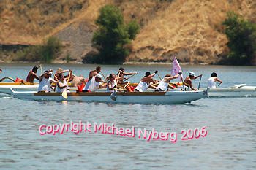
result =
M157 74L158 71L155 71L154 74L150 74L150 72L146 72L145 76L140 80L139 84L133 90L134 92L144 92L148 88L156 89L155 86L150 85L150 82L153 80L153 76Z

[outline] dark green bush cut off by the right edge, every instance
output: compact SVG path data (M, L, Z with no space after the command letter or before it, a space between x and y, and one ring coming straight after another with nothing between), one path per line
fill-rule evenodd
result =
M225 60L233 65L254 65L256 61L256 24L236 12L227 12L222 22L230 52Z

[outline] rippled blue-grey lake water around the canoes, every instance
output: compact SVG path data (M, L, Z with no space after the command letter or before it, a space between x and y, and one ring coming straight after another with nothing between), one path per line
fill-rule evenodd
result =
M33 64L0 64L2 77L26 75ZM72 69L88 77L97 65L43 65L46 69ZM118 65L102 65L105 77ZM167 65L124 65L125 72L171 71ZM217 72L222 88L255 85L255 66L181 66L184 75L203 74L206 88L211 72ZM40 74L39 69L37 74ZM155 78L158 78L157 75ZM198 86L200 78L193 80ZM38 82L38 81L35 81ZM176 81L172 81L176 82ZM94 102L29 101L0 94L0 169L256 169L256 97L203 98L191 104L106 104ZM40 125L91 124L91 132L39 134ZM120 134L94 132L94 123L112 124ZM202 129L203 127L206 127ZM121 129L135 129L135 137L121 136ZM148 131L176 134L176 142L143 138ZM42 133L45 131L42 128ZM182 140L182 130L201 131ZM141 130L141 137L138 134ZM50 131L50 130L49 130ZM207 134L205 133L207 131ZM197 131L198 132L198 131ZM197 137L197 138L196 138ZM173 139L175 137L173 136Z

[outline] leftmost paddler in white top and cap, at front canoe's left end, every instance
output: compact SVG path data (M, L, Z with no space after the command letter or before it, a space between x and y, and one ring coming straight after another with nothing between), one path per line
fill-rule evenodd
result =
M38 91L44 91L44 92L50 92L51 90L51 84L57 83L58 81L53 80L51 78L53 70L49 69L46 70L40 77L39 77L39 86L38 86Z

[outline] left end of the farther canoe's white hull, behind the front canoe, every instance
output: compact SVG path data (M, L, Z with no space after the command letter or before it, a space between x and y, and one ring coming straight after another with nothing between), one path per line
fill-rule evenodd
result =
M10 88L15 91L37 91L38 84L35 85L0 85L0 93L11 94Z

